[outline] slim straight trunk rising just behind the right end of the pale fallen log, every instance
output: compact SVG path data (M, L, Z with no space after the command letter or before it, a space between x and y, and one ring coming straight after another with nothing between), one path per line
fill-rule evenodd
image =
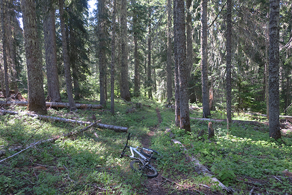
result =
M99 90L100 104L106 104L105 91L105 66L106 66L106 41L105 41L105 1L98 1L98 25L99 25Z

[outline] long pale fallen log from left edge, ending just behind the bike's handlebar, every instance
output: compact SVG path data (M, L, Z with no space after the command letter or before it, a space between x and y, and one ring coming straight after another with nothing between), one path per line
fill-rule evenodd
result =
M61 122L71 122L71 123L75 123L75 124L81 124L81 125L90 125L92 122L88 122L88 121L82 121L82 120L73 120L73 119L69 119L69 118L60 118L60 117L50 117L50 116L45 116L45 115L37 115L34 113L28 113L28 112L15 112L15 111L9 111L9 110L0 110L0 112L2 113L8 113L8 114L25 114L28 115L30 117L37 117L40 118L42 120L53 120L53 121L61 121ZM107 124L101 124L101 123L96 123L94 125L97 128L104 128L104 129L111 129L114 130L115 132L128 132L128 127L121 127L121 126L115 126L115 125L107 125Z

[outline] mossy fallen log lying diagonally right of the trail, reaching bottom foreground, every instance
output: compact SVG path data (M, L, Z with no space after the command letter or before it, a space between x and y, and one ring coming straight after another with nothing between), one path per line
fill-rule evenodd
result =
M170 136L172 136L173 134L171 133L170 129L167 130L167 132L170 132ZM217 179L216 177L214 177L212 175L212 172L208 170L207 167L205 167L204 165L201 164L201 162L196 159L194 156L192 156L191 154L188 153L188 150L183 146L183 144L176 140L176 139L171 139L173 143L178 144L181 148L181 150L183 150L183 154L185 156L185 158L187 160L189 160L194 167L196 167L197 169L199 169L201 171L201 173L203 173L204 176L209 176L211 178L212 181L214 181L215 183L217 183L217 185L219 185L222 189L226 190L228 193L232 193L232 190L230 190L229 188L227 188L223 183L221 183L219 181L219 179Z

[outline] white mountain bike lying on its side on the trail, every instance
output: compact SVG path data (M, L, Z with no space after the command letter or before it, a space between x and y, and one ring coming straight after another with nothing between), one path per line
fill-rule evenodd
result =
M135 160L130 162L130 168L135 172L142 173L149 178L158 176L157 170L151 165L151 159L157 159L159 152L149 148L143 148L138 146L134 148L132 146L128 146L128 140L130 139L130 137L131 133L128 134L127 142L120 157L122 158L124 156L127 156L130 158L134 158ZM131 156L125 154L126 148L130 149ZM140 152L138 151L138 149L140 149ZM135 154L137 154L138 157L135 157Z

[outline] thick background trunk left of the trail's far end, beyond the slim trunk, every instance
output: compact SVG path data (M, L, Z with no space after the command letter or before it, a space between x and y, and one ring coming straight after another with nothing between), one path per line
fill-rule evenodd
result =
M128 83L127 0L121 1L121 98L131 101Z

